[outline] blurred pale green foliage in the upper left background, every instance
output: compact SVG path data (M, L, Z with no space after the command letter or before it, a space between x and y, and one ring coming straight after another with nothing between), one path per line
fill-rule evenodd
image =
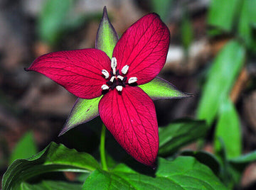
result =
M38 17L38 38L54 46L68 31L82 26L90 18L100 18L100 13L76 13L74 7L74 0L45 0Z

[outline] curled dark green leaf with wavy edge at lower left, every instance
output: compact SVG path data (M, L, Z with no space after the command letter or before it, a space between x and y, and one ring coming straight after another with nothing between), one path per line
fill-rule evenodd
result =
M4 174L2 188L21 189L22 182L47 172L92 172L99 167L97 161L87 153L50 143L37 155L14 161Z

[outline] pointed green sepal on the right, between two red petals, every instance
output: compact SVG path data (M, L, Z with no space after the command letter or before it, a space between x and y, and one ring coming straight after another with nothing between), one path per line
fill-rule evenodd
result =
M153 100L157 99L181 99L192 97L193 95L184 93L160 77L154 78L151 82L139 85L139 87Z

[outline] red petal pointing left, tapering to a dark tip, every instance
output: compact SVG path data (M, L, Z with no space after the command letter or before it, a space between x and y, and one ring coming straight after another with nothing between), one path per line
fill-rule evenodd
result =
M28 71L40 72L81 99L102 95L106 79L102 69L110 71L110 58L97 49L51 52L38 57Z

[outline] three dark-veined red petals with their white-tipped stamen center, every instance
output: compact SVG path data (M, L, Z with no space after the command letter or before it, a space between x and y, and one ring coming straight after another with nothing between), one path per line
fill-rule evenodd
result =
M166 25L149 13L125 31L111 58L98 49L52 52L26 70L46 75L80 99L100 97L98 113L107 129L132 157L152 167L159 150L158 124L154 103L140 85L164 67L169 40Z

